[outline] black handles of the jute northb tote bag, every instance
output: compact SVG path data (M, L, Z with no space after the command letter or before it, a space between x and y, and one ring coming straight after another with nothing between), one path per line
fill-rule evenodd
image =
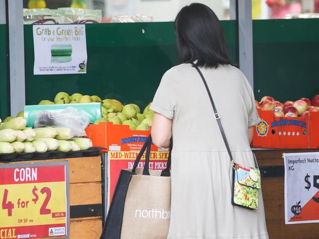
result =
M143 157L143 154L145 152L146 149L146 155L145 155L145 166L143 169L143 175L149 175L149 158L150 158L150 150L151 150L151 145L152 145L152 137L149 134L149 136L147 137L140 153L138 154L138 156L136 157L134 164L133 164L133 168L132 168L132 172L135 173L136 168L140 162L140 160ZM167 164L166 164L166 168L162 171L161 176L170 176L170 167L171 167L171 163L172 163L172 148L173 148L173 139L171 139L171 145L170 145L170 151L169 151L169 157L167 159Z

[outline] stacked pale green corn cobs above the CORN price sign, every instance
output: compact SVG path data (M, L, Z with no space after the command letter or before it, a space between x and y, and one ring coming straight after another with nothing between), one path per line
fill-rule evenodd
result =
M1 120L0 120L1 122ZM0 154L80 151L92 147L88 138L72 138L69 128L26 128L23 117L7 117L0 124Z

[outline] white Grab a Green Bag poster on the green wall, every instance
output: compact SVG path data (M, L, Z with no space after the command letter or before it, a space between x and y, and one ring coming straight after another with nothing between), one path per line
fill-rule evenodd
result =
M34 75L86 74L85 24L34 25Z

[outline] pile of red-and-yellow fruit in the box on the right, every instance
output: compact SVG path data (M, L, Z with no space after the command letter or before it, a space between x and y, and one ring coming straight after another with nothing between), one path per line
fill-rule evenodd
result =
M255 106L262 110L271 110L278 117L305 117L309 112L319 111L319 95L314 96L312 101L301 98L295 102L286 101L284 104L273 97L264 96L260 102L255 100Z

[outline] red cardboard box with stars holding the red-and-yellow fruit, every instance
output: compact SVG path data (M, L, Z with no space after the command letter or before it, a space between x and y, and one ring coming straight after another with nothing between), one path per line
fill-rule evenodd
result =
M261 123L256 125L254 148L319 148L319 112L305 117L277 117L271 111L258 109Z

